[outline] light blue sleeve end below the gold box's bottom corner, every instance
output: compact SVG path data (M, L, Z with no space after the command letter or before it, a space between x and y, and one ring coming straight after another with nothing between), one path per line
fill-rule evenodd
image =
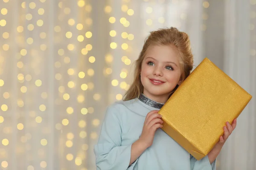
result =
M201 160L195 159L190 155L190 169L191 170L216 170L216 159L210 164L208 156L205 156Z

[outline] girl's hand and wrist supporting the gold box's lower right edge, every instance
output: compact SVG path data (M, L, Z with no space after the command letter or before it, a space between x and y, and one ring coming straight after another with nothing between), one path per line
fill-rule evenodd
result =
M212 150L208 153L209 161L211 164L216 159L218 154L221 152L221 149L224 143L227 141L227 138L231 135L231 133L235 128L236 128L236 119L233 120L232 125L230 125L229 122L226 122L226 126L223 127L224 135L220 136L219 142L215 144Z

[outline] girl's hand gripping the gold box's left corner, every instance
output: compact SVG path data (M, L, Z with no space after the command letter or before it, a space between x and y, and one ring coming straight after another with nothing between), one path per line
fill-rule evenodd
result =
M151 111L147 114L140 139L138 139L144 147L148 148L152 145L156 130L163 127L161 117L158 111Z

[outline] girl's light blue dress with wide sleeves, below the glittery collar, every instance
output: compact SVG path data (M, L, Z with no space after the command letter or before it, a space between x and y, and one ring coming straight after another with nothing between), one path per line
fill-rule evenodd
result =
M131 144L139 139L145 116L159 110L139 99L115 102L108 107L99 141L94 146L97 170L215 170L208 156L196 160L162 129L155 132L153 144L129 166Z

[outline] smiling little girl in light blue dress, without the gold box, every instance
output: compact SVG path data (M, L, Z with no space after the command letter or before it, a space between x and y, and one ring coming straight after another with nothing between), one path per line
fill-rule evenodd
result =
M173 27L151 32L124 101L106 111L94 147L97 170L215 170L216 157L236 127L236 119L232 126L226 123L224 135L199 161L160 128L163 120L158 110L192 68L186 33Z

